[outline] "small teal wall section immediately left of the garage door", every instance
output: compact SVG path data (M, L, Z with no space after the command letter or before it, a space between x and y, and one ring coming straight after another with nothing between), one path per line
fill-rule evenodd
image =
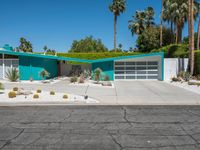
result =
M97 68L100 68L105 73L105 75L108 75L110 77L111 81L114 80L114 63L113 63L113 61L92 63L92 71L94 71Z

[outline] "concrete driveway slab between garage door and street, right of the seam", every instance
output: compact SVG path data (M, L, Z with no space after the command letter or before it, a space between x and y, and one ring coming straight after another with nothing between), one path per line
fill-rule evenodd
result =
M115 88L118 104L200 104L199 94L160 81L115 82Z

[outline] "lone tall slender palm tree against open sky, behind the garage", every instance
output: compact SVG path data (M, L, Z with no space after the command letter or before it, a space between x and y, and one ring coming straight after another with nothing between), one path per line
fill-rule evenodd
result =
M114 14L114 49L116 51L117 42L117 17L126 10L125 0L113 0L112 4L109 6L110 11Z

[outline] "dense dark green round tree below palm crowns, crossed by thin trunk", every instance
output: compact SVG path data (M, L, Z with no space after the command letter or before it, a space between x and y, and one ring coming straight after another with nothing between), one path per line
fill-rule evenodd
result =
M163 27L163 46L169 45L171 43L170 29ZM141 35L138 36L136 41L139 51L150 52L152 49L157 49L160 47L160 27L152 26L147 28Z

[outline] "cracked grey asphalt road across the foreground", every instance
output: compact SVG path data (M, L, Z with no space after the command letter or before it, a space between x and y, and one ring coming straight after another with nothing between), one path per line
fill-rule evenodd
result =
M0 107L0 149L200 150L200 107Z

